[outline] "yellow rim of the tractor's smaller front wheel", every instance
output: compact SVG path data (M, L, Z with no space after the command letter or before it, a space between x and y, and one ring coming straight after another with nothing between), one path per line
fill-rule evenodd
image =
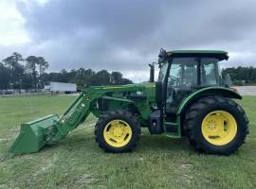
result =
M110 121L103 131L106 143L114 147L126 146L132 138L130 125L119 119Z

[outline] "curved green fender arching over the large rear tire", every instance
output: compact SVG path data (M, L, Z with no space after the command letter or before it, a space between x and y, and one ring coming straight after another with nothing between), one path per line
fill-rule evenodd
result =
M177 114L180 115L184 113L187 108L194 102L195 100L202 98L207 95L222 95L229 98L242 99L242 95L238 94L235 90L227 87L207 87L200 89L189 96L187 96L178 108Z

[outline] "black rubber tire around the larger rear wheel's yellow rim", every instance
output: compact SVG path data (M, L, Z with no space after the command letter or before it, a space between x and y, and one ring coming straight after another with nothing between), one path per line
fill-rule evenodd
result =
M235 137L226 145L212 145L203 136L202 122L205 116L213 111L229 112L236 121ZM247 115L236 102L223 96L206 96L194 102L186 112L184 130L190 144L197 150L211 154L229 155L245 143L248 133L247 124Z

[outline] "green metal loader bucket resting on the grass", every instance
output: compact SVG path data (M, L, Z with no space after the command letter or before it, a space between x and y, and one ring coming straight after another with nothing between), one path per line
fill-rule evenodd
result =
M55 114L21 125L20 134L9 148L10 153L24 154L39 151L46 145L46 129L59 119Z

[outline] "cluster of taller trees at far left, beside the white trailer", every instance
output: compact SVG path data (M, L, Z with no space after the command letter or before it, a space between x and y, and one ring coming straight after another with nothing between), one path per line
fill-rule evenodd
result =
M0 89L40 89L48 62L43 57L28 56L17 52L0 62Z

